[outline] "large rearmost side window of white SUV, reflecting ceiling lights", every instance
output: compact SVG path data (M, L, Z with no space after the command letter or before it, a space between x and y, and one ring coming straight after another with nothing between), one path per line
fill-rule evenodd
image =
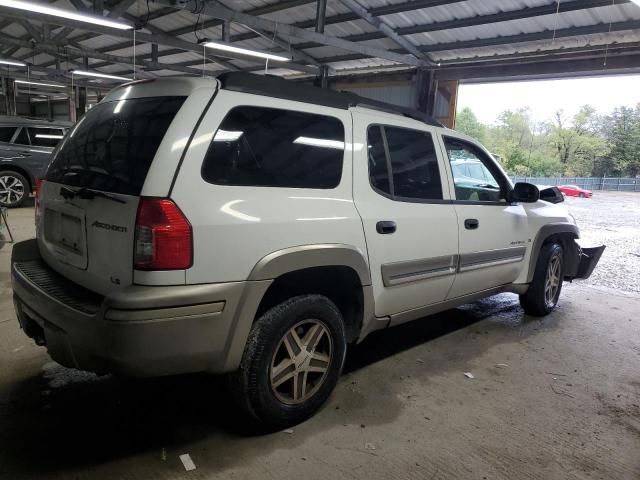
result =
M335 188L343 157L344 127L337 118L236 107L215 133L202 178L218 185Z

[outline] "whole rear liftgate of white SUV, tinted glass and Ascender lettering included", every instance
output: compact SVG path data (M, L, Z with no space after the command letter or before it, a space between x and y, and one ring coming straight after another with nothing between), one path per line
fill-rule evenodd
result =
M45 261L65 277L103 295L132 283L139 195L185 98L100 103L54 151L37 236Z

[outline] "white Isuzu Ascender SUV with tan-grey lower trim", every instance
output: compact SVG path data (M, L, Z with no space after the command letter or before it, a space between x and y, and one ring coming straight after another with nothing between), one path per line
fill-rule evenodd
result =
M459 158L491 180L458 179ZM15 305L54 360L229 373L272 427L327 399L350 342L505 291L547 314L604 249L471 138L239 73L113 90L54 152L36 225Z

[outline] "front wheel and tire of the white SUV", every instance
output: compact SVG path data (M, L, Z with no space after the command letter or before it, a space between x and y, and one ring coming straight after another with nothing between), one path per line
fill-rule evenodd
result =
M520 305L528 315L542 317L556 308L564 275L562 246L546 243L540 250L533 280L527 293L520 295Z

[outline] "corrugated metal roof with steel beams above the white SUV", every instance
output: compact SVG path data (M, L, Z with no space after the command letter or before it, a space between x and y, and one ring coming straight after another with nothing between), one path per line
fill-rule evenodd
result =
M12 79L27 76L70 86L73 69L127 78L266 70L378 98L388 97L389 87L405 88L399 103L452 125L460 80L640 71L640 6L631 0L39 3L119 19L134 28L116 30L17 10L0 1L0 58L28 64L28 69L4 65L0 70L7 113L16 111L11 99L20 98ZM290 61L265 65L243 53L205 49L203 39L285 55ZM113 81L73 80L73 89L64 93L25 84L17 90L29 89L29 103L50 106L52 98L54 103L71 99L73 119L86 108L87 95L91 102L113 86Z

